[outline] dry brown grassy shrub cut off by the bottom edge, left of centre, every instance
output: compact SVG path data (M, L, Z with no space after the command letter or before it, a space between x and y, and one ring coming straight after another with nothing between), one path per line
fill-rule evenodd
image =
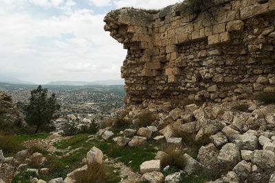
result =
M96 161L88 165L87 171L80 173L76 179L76 183L102 183L114 182L115 175L110 167L104 163L100 164Z

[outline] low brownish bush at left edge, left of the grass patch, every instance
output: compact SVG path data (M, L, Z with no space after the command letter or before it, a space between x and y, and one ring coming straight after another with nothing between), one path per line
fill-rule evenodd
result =
M14 141L12 136L0 136L0 149L5 154L14 154L21 150L22 146L18 141Z

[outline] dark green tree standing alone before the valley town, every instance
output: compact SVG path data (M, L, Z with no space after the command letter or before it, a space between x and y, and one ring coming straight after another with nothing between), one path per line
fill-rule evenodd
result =
M34 133L41 128L50 129L52 120L58 118L56 111L60 109L60 105L56 102L56 96L53 93L51 97L47 97L47 88L39 85L35 90L31 91L30 103L23 107L25 113L25 121L29 125L36 126Z

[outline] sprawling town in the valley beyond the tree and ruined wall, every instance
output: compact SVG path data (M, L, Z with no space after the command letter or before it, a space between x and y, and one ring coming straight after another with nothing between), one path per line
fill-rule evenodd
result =
M14 103L28 103L30 91L36 85L0 83L0 90L12 96ZM61 86L45 85L48 95L56 94L61 105L60 118L54 121L56 130L61 130L63 123L89 125L91 122L100 123L114 117L122 111L124 103L123 85L112 86Z

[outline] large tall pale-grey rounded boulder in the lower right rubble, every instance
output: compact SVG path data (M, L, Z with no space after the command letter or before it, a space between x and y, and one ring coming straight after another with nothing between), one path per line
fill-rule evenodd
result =
M217 156L221 172L232 170L232 168L241 161L241 153L239 145L227 143L221 147Z

